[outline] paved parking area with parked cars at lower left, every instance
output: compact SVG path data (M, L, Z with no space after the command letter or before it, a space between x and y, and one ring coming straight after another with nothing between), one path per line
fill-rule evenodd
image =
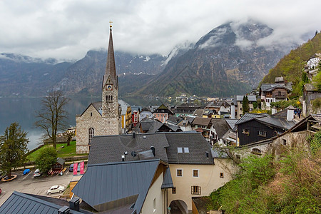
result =
M7 198L14 191L21 193L30 193L35 195L46 195L46 191L51 188L52 185L66 185L68 186L71 180L78 180L81 175L73 175L73 172L66 172L61 175L49 175L34 178L34 170L30 173L23 175L21 172L13 172L12 174L17 175L17 178L9 182L1 182L0 188L2 193L0 194L0 205L6 201ZM58 198L59 193L50 195L50 197Z

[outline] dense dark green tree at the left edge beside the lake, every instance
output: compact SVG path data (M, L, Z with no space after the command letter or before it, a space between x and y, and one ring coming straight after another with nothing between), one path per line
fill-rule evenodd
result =
M19 123L15 122L6 128L3 136L0 136L1 170L6 172L8 178L11 178L11 170L18 168L26 160L29 143L26 135L27 132L21 131Z

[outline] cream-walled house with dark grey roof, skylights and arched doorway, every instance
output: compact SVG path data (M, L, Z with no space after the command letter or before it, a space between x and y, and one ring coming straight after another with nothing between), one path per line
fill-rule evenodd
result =
M235 168L230 158L213 151L200 133L183 132L94 136L88 165L153 159L168 164L168 174L173 183L168 187L165 200L156 199L155 202L163 203L164 213L165 210L190 212L192 197L210 195L231 179L231 170ZM143 175L135 173L133 176L135 180ZM163 191L153 188L153 195L163 194ZM152 199L144 203L149 210L154 204Z

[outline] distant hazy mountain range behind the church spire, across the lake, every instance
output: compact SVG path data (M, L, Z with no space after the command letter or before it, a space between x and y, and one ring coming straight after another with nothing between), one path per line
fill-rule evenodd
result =
M45 96L62 90L68 96L101 96L107 51L88 51L74 63L57 63L19 54L0 54L0 96ZM166 57L115 52L120 95L141 86L163 71ZM139 75L138 75L139 74Z

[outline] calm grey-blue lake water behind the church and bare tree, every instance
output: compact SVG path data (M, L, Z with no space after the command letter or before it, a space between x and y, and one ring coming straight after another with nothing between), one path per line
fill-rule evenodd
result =
M146 101L142 98L126 99L130 105L147 106L156 104L159 101ZM66 106L68 111L69 126L76 126L76 114L81 114L90 103L101 101L101 98L71 98L71 101ZM41 108L41 98L0 98L0 135L4 134L6 127L11 123L18 122L21 129L28 132L29 150L36 148L41 141L39 138L44 133L40 128L34 128L33 124L36 121L35 111Z

